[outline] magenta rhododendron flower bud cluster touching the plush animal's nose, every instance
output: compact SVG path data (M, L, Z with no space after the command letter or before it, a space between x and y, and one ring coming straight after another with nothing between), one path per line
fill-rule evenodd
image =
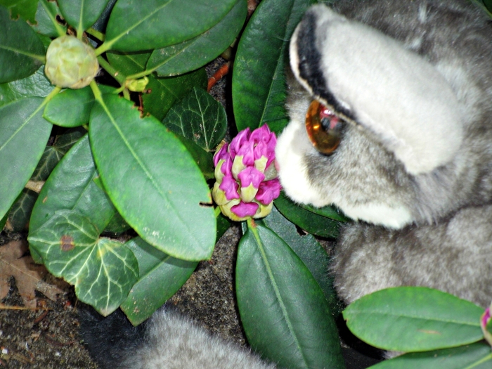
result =
M262 218L280 195L275 169L277 138L265 124L240 131L214 155L216 183L212 196L221 212L233 221Z

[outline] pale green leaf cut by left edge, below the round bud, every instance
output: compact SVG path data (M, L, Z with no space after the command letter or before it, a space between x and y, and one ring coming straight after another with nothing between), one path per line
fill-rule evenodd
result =
M0 107L0 218L30 179L51 132L41 117L42 98L22 98Z

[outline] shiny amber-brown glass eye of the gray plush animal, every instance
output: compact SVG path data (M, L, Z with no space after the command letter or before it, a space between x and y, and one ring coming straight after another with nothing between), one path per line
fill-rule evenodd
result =
M306 113L306 131L314 148L331 154L342 139L343 121L319 101L313 100Z

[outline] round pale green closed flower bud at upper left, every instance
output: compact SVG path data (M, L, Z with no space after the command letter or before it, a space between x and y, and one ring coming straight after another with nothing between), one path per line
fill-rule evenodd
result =
M44 73L56 86L82 89L91 83L98 70L94 49L76 37L58 37L48 46Z

